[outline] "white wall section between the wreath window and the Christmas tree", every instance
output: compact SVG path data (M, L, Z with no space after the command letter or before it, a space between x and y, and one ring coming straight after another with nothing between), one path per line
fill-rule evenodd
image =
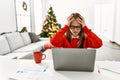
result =
M42 24L47 12L47 0L31 0L31 22L32 32L40 34L42 30Z

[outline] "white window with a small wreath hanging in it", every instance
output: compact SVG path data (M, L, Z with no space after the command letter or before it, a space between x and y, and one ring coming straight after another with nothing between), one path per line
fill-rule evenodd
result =
M30 19L30 1L29 0L15 0L16 3L16 18L17 18L17 31L21 31L23 27L27 31L31 31Z

